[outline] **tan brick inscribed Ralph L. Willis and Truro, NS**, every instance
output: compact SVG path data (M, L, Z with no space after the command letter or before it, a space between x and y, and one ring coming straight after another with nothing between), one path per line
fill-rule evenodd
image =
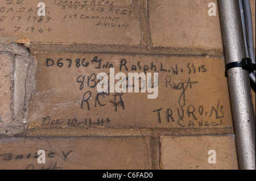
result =
M28 128L233 127L224 61L219 57L103 53L35 56L36 90L30 100ZM155 71L158 97L148 99L152 93L141 90L98 94L97 74L109 73L109 66L115 74L121 71L126 76L144 69L147 73Z

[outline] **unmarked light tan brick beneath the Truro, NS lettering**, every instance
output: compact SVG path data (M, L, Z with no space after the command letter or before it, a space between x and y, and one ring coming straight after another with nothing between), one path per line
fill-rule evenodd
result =
M163 136L161 142L162 169L238 169L236 143L228 136ZM216 163L210 150L216 153ZM209 154L208 154L209 153Z

